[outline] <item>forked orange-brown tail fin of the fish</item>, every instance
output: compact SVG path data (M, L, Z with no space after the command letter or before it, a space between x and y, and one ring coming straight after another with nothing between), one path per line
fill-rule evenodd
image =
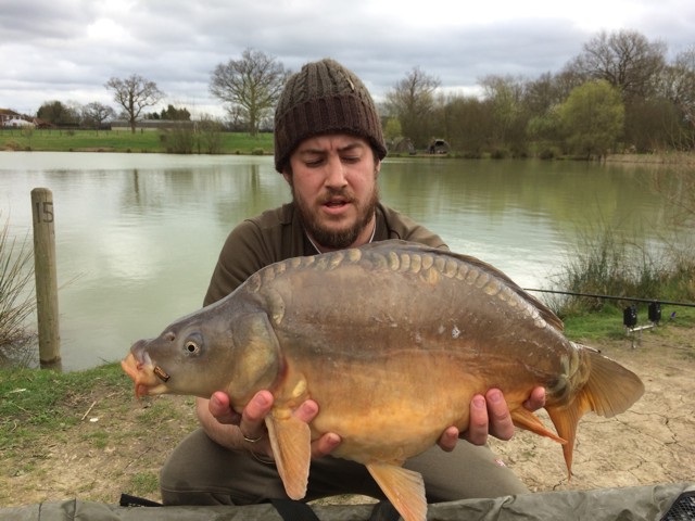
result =
M581 417L593 410L611 418L628 410L644 393L644 384L634 372L595 350L580 347L589 354L589 380L568 404L545 407L555 430L568 442L563 446L568 476L572 473L572 450Z

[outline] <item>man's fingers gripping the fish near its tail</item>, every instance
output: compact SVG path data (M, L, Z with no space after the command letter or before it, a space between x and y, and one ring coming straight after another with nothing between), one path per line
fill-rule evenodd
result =
M531 396L523 403L523 407L534 411L545 405L545 389L535 387ZM473 445L484 445L488 436L493 435L500 440L510 440L514 435L514 422L509 414L509 407L504 399L502 391L491 389L485 395L477 394L470 402L470 417L468 430L459 433L455 427L450 427L439 439L439 446L451 452L456 447L459 437Z

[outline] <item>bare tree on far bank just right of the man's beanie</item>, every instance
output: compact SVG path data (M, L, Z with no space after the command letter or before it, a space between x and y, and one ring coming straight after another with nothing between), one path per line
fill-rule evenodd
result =
M434 91L440 85L439 78L413 67L387 92L387 109L401 122L403 136L410 138L416 145L426 144L431 138Z

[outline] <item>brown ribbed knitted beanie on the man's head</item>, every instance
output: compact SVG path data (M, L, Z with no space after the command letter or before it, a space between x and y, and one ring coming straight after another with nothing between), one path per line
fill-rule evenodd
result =
M282 171L305 139L344 132L367 139L387 155L381 120L362 80L334 60L307 63L290 76L275 110L275 168Z

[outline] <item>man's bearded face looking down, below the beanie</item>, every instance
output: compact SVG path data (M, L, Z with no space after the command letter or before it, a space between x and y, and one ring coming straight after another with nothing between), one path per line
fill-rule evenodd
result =
M317 245L339 250L369 242L380 166L363 138L336 134L300 143L283 176Z

